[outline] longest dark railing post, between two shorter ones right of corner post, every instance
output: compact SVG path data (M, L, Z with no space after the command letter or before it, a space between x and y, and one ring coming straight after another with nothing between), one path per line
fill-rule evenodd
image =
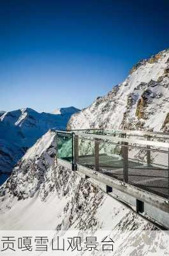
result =
M122 143L123 181L128 183L128 142Z

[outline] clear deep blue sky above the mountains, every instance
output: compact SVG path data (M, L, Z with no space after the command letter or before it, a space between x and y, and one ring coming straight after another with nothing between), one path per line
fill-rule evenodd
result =
M169 47L169 1L0 3L0 110L85 108Z

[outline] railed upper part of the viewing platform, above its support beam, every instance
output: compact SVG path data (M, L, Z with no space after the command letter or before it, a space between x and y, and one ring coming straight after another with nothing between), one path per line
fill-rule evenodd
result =
M168 134L125 132L57 131L57 157L169 199Z

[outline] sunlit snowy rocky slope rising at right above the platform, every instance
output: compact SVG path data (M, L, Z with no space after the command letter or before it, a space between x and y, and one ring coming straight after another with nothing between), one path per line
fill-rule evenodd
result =
M169 49L138 62L126 80L71 116L68 129L168 131Z

